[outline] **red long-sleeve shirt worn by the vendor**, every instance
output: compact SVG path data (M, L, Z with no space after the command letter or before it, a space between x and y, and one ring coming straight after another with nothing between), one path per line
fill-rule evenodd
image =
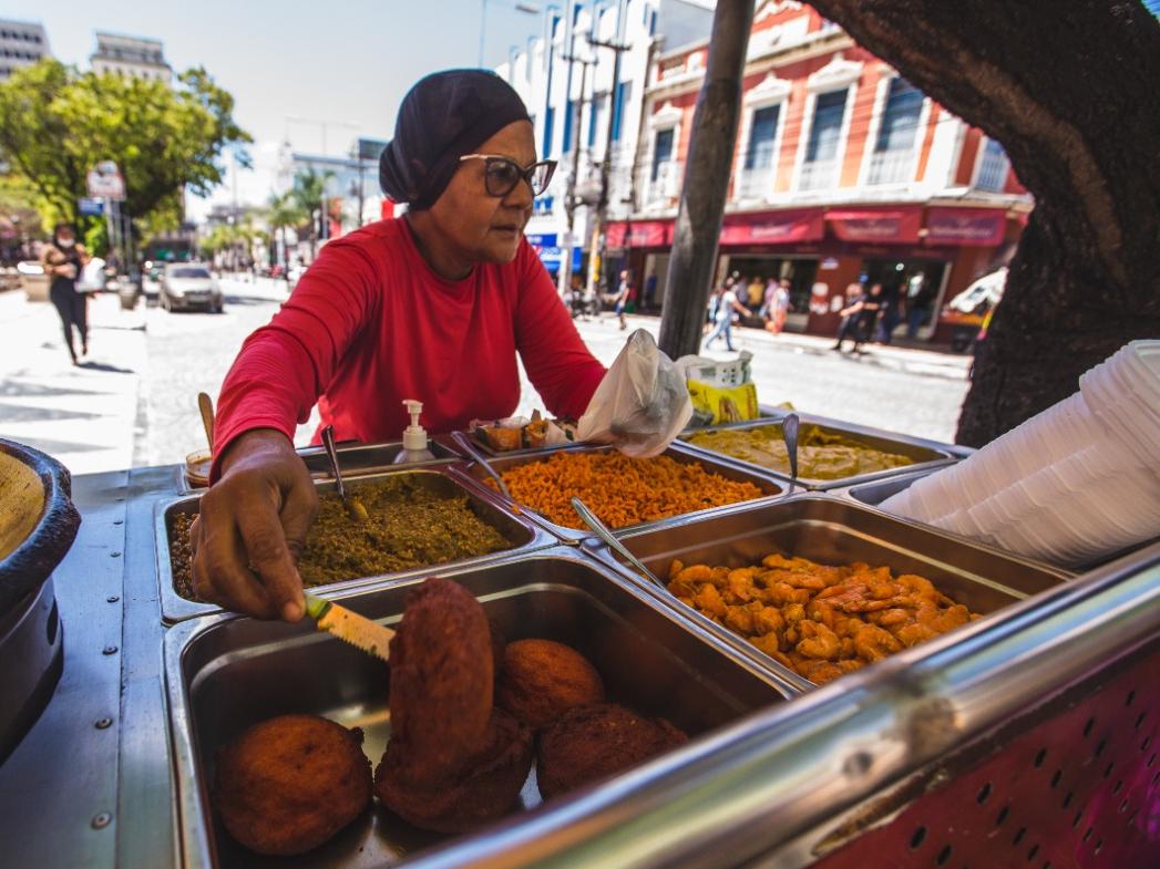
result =
M423 402L433 433L509 416L520 401L516 351L549 411L583 414L604 366L527 241L506 265L445 280L405 220L371 224L327 244L242 344L218 399L213 476L239 434L276 429L292 439L316 401L336 439L363 443L401 434L404 399Z

